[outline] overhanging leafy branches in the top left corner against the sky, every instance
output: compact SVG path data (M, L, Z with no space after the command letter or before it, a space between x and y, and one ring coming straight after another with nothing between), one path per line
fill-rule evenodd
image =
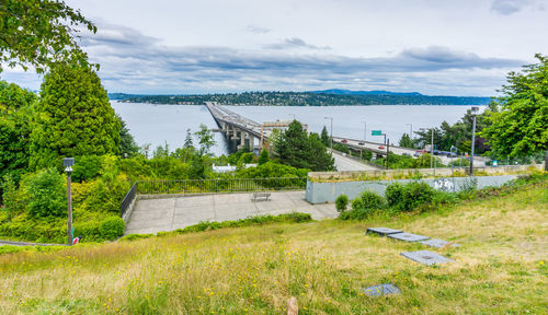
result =
M0 1L1 65L32 66L38 73L60 60L88 65L88 56L75 40L79 25L95 33L96 27L64 1Z

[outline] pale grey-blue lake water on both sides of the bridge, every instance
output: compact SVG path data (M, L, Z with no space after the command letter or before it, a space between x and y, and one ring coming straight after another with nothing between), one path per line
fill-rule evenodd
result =
M119 103L112 101L112 107L126 121L130 133L139 145L150 143L153 150L165 142L170 150L184 143L186 129L192 132L199 129L199 124L208 128L218 128L212 115L202 105L152 105L142 103ZM481 110L486 106L479 106ZM381 130L397 143L401 136L419 128L438 127L442 121L458 121L470 106L435 106L435 105L375 105L375 106L329 106L329 107L294 107L294 106L227 106L227 108L258 122L274 120L292 120L295 118L308 124L309 130L320 132L323 126L330 129L333 118L335 137L363 139L364 122L367 122L367 141L383 142L384 137L370 136L372 130ZM228 143L220 132L215 133L216 155L228 153Z

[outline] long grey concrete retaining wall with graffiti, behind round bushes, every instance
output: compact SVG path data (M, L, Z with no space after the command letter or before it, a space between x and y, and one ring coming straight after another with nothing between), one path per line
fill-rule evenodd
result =
M476 176L478 188L488 186L501 186L504 183L517 178L517 175L500 176ZM385 195L386 187L392 183L409 183L413 179L393 179L393 180L356 180L356 182L330 182L315 183L307 182L306 200L310 203L334 202L336 197L344 194L350 199L356 198L362 191L370 190L381 196ZM430 186L448 191L459 191L470 183L470 177L446 177L446 178L423 178L419 179L427 183Z

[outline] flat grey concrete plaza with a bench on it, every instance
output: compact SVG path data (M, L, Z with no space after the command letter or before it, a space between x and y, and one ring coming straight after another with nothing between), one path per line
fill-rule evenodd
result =
M272 192L270 201L251 201L253 192L142 199L137 201L126 234L173 231L201 221L229 221L255 215L306 212L312 219L336 218L333 203L310 205L305 191Z

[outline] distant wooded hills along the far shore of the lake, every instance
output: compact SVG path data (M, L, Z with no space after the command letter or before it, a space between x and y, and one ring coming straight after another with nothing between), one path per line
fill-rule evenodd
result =
M201 95L109 94L127 103L195 105L218 102L224 105L259 106L358 106L358 105L487 105L491 97L429 96L418 92L324 90L312 92L243 92Z

